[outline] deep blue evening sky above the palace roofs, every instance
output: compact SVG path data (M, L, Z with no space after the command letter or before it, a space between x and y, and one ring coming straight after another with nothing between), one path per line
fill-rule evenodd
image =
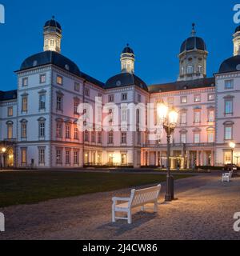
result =
M126 43L136 55L135 73L147 84L178 77L178 51L192 22L209 51L207 74L233 54L233 6L237 1L0 0L6 24L0 24L0 90L17 87L14 70L42 51L42 26L55 15L62 25L62 54L83 72L106 82L120 72Z

